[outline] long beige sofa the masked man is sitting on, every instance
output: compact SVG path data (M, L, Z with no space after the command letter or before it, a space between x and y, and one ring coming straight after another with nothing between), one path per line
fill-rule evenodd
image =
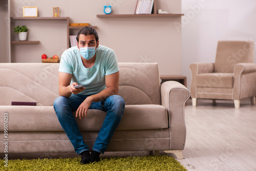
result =
M70 153L74 148L53 109L58 94L58 63L0 63L0 131L8 113L8 154ZM186 139L184 104L189 91L176 81L160 87L157 63L119 63L119 95L125 100L122 120L108 152L165 151L182 157ZM37 102L36 106L11 101ZM6 114L5 114L6 115ZM84 141L92 149L105 112L89 110L77 119ZM1 150L1 155L4 151Z

